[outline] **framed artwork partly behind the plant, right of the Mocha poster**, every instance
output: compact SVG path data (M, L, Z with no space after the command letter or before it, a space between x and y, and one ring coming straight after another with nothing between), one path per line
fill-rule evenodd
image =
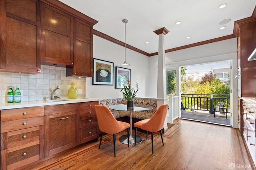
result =
M131 69L116 66L116 89L124 88L127 80L131 81Z

